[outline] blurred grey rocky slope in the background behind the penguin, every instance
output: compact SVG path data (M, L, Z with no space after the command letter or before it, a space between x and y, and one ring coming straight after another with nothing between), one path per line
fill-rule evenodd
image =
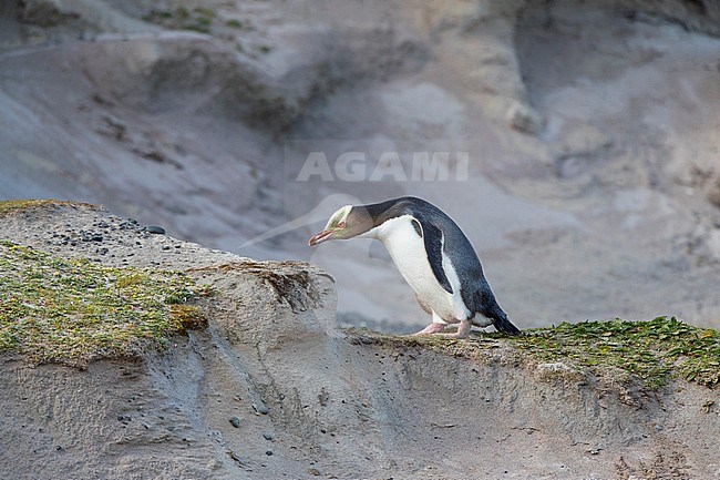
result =
M340 323L407 331L428 318L380 245L306 242L346 203L418 195L463 227L521 327L720 326L720 2L2 0L0 14L0 198L102 203L308 259L336 278ZM367 175L300 181L312 152L331 167L361 152ZM407 178L372 178L388 152ZM413 178L418 152L450 152L449 177Z

